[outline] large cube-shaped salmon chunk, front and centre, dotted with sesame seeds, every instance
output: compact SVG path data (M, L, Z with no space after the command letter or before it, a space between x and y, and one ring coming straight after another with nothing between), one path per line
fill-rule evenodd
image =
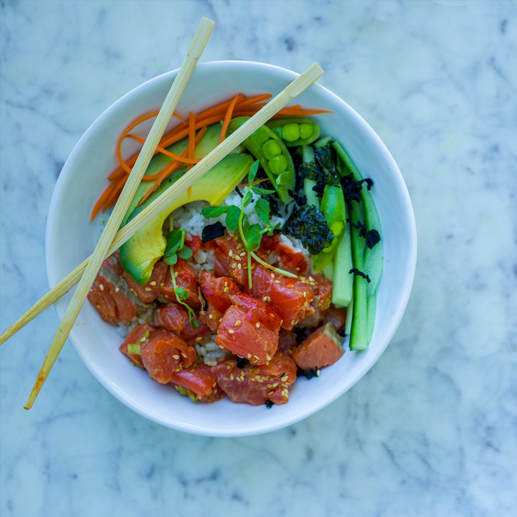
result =
M267 305L245 293L231 298L216 334L216 343L233 354L262 364L278 347L280 316Z

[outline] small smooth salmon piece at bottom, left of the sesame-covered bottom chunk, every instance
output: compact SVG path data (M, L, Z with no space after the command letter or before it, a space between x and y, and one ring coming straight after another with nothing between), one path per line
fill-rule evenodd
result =
M194 400L203 402L216 402L224 397L224 391L217 384L217 377L205 363L194 363L188 368L172 375L171 383L183 394L185 388L187 394Z

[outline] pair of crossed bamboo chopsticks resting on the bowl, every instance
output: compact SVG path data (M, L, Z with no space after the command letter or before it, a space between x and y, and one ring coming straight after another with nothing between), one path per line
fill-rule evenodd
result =
M102 261L117 250L124 242L129 239L135 232L141 229L147 221L155 217L166 206L170 205L181 193L185 192L197 179L202 177L209 169L216 165L221 159L229 154L235 147L248 138L256 129L266 123L273 115L282 109L293 98L297 97L313 84L322 74L323 70L314 64L303 72L297 79L289 84L280 94L271 99L260 111L251 117L237 131L232 133L221 144L219 144L210 154L203 158L199 163L186 173L176 183L167 189L153 203L147 206L142 212L130 221L126 226L117 232L120 227L121 220L126 213L129 203L140 184L142 176L147 169L147 165L158 142L165 131L166 125L176 108L179 97L183 93L187 82L192 74L197 60L200 58L203 50L208 43L208 39L214 29L215 22L203 18L194 35L192 43L187 52L187 57L181 66L171 90L158 113L153 127L140 151L131 174L123 191L120 193L119 199L113 209L113 212L106 224L104 231L97 243L92 255L83 261L62 281L56 284L47 294L45 294L31 309L29 309L16 323L14 323L0 337L0 344L7 341L14 333L23 328L27 323L32 321L37 315L47 309L52 303L67 293L71 287L78 284L69 306L60 322L54 339L51 343L47 357L43 362L43 366L38 374L36 383L29 396L25 409L32 407L38 393L47 379L59 352L63 348L71 328L77 319L77 316L83 306L88 291L94 282L100 269Z

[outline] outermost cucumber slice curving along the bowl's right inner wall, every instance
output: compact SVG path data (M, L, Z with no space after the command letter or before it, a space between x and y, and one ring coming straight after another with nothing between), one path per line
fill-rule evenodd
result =
M338 156L343 161L345 168L349 173L352 173L354 176L354 181L360 181L362 178L361 173L357 169L357 166L352 161L352 159L348 156L345 149L339 142L333 142L333 147L336 149ZM377 214L377 209L375 208L375 203L373 201L372 195L370 191L364 187L361 188L361 200L363 203L364 209L364 222L367 226L367 231L377 230L379 235L381 235L381 223L379 221L379 216ZM370 278L370 283L367 287L367 295L371 296L381 278L383 271L383 241L377 242L377 244L373 248L369 248L368 246L364 249L364 271L368 273Z

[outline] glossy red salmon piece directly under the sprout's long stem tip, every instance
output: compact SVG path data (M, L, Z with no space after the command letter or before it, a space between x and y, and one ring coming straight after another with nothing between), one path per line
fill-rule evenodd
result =
M253 269L250 294L266 301L282 318L282 328L291 330L314 313L314 290L309 281L280 275L257 264Z

